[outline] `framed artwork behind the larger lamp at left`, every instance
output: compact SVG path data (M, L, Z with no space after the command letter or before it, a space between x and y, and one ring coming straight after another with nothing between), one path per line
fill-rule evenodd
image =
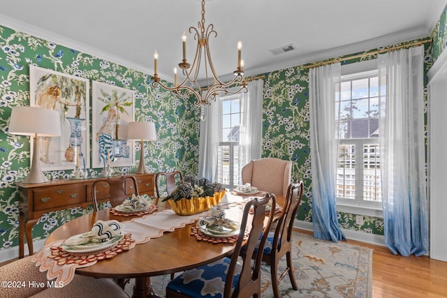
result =
M89 167L89 80L30 65L29 84L30 105L60 115L61 136L39 138L42 170Z

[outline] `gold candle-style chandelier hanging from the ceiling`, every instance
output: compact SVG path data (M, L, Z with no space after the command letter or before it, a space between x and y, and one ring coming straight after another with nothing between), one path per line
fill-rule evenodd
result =
M205 31L205 0L202 0L202 20L198 23L198 29L196 27L190 27L189 33L193 33L194 40L197 40L196 56L194 57L192 65L186 61L186 33L182 36L183 45L183 59L179 63L179 68L182 69L184 80L178 84L177 82L177 68L174 68L174 87L168 87L161 82L159 75L157 74L157 62L159 55L154 52L154 77L152 77L152 87L157 85L163 87L168 91L173 91L180 98L188 98L193 94L196 96L195 105L204 106L210 105L210 100L216 100L218 94L237 94L244 90L247 92L247 83L244 80L244 61L241 59L242 43L237 43L237 68L233 72L235 77L229 82L222 82L214 70L214 66L211 60L210 47L208 40L212 34L217 37L217 32L214 30L213 24L208 25ZM203 57L202 57L203 55ZM200 87L197 77L200 73L200 63L205 64L204 71L206 77L205 87ZM212 80L212 84L210 84ZM235 87L233 89L233 87ZM231 88L231 89L230 89Z

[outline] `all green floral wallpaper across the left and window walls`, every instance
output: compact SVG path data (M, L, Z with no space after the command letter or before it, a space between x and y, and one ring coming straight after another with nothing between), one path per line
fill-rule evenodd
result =
M425 43L426 71L446 47L446 19L447 11L444 10L430 36L433 43ZM374 58L376 56L371 54L343 63L351 64ZM1 249L17 246L18 206L15 180L23 179L29 171L29 139L7 133L11 107L29 105L29 64L135 90L135 120L153 120L156 123L158 140L145 144L144 154L149 170L197 173L200 130L200 121L197 119L200 111L192 101L185 104L163 89L153 89L149 86L150 75L145 73L0 25ZM293 179L302 179L305 182L298 219L312 222L308 71L303 66L293 66L263 74L262 156L293 161ZM135 150L136 158L139 158L139 146L135 146ZM126 172L132 169L123 167L120 170ZM100 171L90 170L91 174ZM69 171L46 174L53 178L66 177ZM34 227L34 239L45 238L57 226L87 211L91 210L74 208L45 214ZM342 228L383 234L382 218L365 216L364 224L358 226L355 214L339 212L337 215Z

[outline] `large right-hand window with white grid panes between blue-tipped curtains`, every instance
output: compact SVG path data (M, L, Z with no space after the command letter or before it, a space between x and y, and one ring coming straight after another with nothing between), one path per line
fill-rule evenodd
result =
M338 203L381 209L379 116L385 93L377 70L342 76L335 99Z

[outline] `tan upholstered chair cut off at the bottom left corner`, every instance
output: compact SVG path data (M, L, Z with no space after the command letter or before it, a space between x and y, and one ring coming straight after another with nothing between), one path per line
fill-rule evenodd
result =
M27 256L0 267L0 279L3 282L11 281L16 285L21 281L24 287L2 287L0 297L127 297L129 295L110 278L93 278L75 274L73 280L61 288L48 288L47 274L41 272L31 262L32 256ZM34 282L32 286L29 282Z

